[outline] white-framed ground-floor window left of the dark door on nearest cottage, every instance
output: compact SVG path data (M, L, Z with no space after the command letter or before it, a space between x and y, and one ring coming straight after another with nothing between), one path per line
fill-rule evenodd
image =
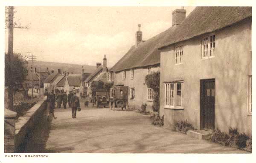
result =
M180 105L177 105L177 84L181 84L181 98L180 98ZM165 108L171 108L171 109L179 109L183 108L182 106L182 96L183 96L183 83L176 83L176 82L169 82L165 83L165 102L164 106Z

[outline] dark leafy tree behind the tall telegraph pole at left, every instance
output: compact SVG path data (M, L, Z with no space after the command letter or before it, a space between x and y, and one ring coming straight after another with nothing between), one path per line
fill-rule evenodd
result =
M8 54L5 53L5 86L9 86L10 80L9 80L9 59ZM12 62L12 77L13 77L13 83L15 86L19 87L23 81L26 79L26 75L28 74L27 70L27 61L22 57L20 54L14 54L13 56L13 62Z

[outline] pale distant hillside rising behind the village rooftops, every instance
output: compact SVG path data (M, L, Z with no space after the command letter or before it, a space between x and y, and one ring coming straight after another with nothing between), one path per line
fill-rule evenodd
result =
M28 68L30 69L32 65L32 61L28 62ZM88 65L79 65L79 64L70 64L70 63L56 63L56 62L44 62L44 61L36 61L34 62L34 67L36 67L37 71L39 71L39 66L41 66L41 71L45 71L48 67L48 70L54 70L54 72L61 69L62 71L67 71L69 73L73 72L74 74L81 74L82 66L84 67L84 72L93 72L96 70L96 66L88 66Z

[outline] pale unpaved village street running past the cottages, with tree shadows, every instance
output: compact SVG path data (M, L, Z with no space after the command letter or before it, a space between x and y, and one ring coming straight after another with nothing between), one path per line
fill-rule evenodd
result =
M28 136L27 153L247 153L197 140L186 134L151 125L149 115L81 104L55 109L56 120L44 121ZM47 125L48 124L48 125Z

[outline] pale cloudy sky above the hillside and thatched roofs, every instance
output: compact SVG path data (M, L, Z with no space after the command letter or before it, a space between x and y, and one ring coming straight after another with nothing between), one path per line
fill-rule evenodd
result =
M16 6L15 20L29 29L14 29L14 52L37 60L96 65L104 55L113 66L135 43L137 25L143 40L172 26L180 7ZM195 7L185 7L186 16ZM8 31L5 51L8 51Z

